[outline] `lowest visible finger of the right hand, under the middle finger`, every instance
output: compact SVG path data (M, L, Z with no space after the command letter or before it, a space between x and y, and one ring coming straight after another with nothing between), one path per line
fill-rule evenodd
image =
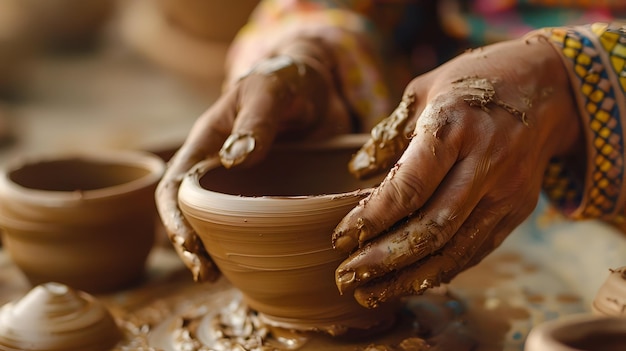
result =
M354 297L361 305L374 308L390 299L419 295L425 290L449 282L479 251L487 237L494 235L505 218L502 208L480 205L470 215L458 233L444 248L417 262L389 279L383 278L359 287Z

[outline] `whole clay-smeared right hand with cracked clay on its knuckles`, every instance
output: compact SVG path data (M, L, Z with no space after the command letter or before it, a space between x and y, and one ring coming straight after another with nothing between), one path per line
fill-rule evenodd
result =
M351 252L340 291L376 307L478 263L532 212L549 159L576 150L580 133L565 66L543 37L415 78L350 165L362 177L391 170L333 233Z

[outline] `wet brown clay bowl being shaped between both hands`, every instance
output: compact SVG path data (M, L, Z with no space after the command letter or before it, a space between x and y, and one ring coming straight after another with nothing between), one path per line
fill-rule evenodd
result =
M339 221L379 179L357 181L347 164L367 136L275 147L261 164L196 165L179 205L223 275L274 326L341 334L377 328L391 308L368 310L340 295L334 271L346 258L332 248Z

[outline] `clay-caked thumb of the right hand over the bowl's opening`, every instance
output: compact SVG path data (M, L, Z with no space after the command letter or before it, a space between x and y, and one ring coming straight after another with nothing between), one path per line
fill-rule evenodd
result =
M414 103L415 95L405 95L395 111L372 129L370 140L350 161L350 173L365 179L391 167L409 144L407 126Z

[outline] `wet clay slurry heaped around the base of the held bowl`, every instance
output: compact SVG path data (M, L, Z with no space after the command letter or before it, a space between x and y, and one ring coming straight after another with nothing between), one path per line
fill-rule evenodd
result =
M473 350L465 318L461 302L433 293L407 300L391 330L333 338L264 323L222 280L213 293L190 287L124 316L126 338L115 350Z

